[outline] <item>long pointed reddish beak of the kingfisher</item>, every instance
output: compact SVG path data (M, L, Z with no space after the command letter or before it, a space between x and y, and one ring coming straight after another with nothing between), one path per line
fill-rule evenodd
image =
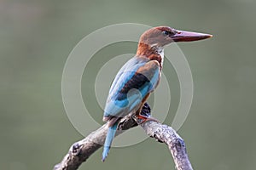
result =
M171 38L174 42L193 42L212 37L210 34L203 34L192 31L177 31Z

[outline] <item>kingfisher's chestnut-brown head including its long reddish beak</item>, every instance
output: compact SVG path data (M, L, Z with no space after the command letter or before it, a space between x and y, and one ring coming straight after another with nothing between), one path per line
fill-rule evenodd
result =
M212 37L192 31L178 31L168 26L158 26L145 31L140 37L140 43L150 47L163 48L171 42L192 42Z

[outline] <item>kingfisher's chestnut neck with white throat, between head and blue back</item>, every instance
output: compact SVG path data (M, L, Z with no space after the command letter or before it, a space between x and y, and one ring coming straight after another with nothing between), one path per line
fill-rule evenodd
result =
M157 60L160 68L162 68L164 61L164 49L157 45L148 45L139 42L137 47L137 56L147 57L150 60Z

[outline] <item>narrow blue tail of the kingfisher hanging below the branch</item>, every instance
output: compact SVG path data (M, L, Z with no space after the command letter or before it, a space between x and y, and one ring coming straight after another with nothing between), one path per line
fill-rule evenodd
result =
M107 137L106 137L103 152L102 152L102 161L105 161L105 159L108 156L108 152L109 152L111 143L113 141L117 126L118 126L118 122L115 122L112 127L108 127L108 133L107 133Z

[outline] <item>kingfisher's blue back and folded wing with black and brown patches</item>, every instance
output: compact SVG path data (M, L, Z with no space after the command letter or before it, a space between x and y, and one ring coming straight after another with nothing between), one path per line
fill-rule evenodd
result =
M160 79L160 66L155 60L134 57L115 77L108 94L104 117L125 116L154 90Z

